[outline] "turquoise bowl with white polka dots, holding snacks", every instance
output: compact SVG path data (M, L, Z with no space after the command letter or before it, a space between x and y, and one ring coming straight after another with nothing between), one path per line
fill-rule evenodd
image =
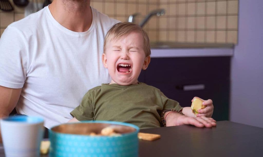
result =
M113 127L120 136L90 136L105 127ZM49 156L131 157L138 156L139 127L113 121L66 123L49 130Z

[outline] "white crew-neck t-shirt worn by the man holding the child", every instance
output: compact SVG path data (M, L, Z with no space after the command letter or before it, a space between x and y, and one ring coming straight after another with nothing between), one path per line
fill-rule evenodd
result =
M109 83L102 63L107 31L119 21L92 8L88 31L60 25L48 7L12 23L0 39L0 86L22 88L16 110L44 117L50 128L69 114L91 88Z

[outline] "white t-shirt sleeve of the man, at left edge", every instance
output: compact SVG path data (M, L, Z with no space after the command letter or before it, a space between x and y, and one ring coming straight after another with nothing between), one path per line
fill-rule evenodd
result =
M22 32L8 26L0 38L0 86L22 88L26 80L27 46Z

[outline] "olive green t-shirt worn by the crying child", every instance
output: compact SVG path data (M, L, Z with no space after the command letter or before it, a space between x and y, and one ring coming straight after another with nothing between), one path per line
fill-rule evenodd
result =
M183 109L158 88L138 83L121 86L102 84L90 89L70 114L79 121L106 120L137 125L141 129L160 127L158 111Z

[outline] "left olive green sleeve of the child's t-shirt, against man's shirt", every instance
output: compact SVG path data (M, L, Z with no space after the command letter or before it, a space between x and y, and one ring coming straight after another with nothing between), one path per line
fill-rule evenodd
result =
M90 92L87 92L80 105L75 108L70 114L75 117L79 121L83 120L93 120L93 103L92 103L92 96Z

